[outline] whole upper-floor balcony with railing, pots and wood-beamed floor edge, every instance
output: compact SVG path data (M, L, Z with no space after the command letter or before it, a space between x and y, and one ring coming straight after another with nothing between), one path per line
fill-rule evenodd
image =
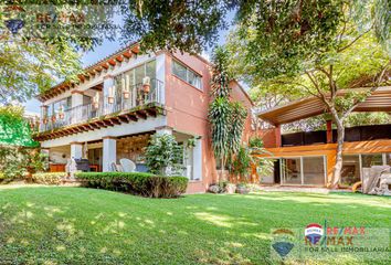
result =
M102 96L98 103L80 105L43 118L40 123L39 136L60 131L63 128L74 128L77 125L94 124L93 121L107 127L110 124L105 123L105 118L117 116L124 116L119 117L119 121L125 121L126 119L136 121L137 117L146 118L148 114L151 114L151 108L156 110L156 107L163 105L162 93L163 84L161 81L151 80L149 92L144 89L142 84L136 84L130 87L128 95L118 93L113 95L110 99L108 99L107 95L105 98ZM112 125L119 121L116 119L113 124L112 120Z

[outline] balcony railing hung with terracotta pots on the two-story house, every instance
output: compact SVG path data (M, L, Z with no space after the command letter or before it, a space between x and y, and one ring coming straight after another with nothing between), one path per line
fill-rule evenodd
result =
M113 103L109 103L106 95L97 106L94 103L89 103L66 109L63 114L49 116L41 121L40 131L82 124L92 118L131 109L137 106L145 106L150 103L162 104L162 93L163 84L161 81L151 80L148 93L144 91L142 84L136 84L130 88L128 98L125 98L124 93L117 93L114 95Z

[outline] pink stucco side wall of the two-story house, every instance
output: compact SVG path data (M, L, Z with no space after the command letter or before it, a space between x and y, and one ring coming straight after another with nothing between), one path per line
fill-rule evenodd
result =
M211 102L210 67L208 62L189 54L176 53L166 56L166 106L168 126L173 130L198 135L202 137L202 181L191 182L189 193L204 192L210 183L218 179L215 160L211 148L210 127L208 123L208 107ZM202 76L202 91L178 78L171 73L173 57L186 64ZM240 88L236 82L231 82L232 97L249 107L243 140L247 140L251 131L250 98Z

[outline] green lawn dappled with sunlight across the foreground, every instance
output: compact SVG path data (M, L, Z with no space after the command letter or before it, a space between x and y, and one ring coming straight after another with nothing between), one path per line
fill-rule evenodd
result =
M159 200L82 188L0 189L0 264L271 264L272 227L325 218L330 225L391 227L391 200L282 192Z

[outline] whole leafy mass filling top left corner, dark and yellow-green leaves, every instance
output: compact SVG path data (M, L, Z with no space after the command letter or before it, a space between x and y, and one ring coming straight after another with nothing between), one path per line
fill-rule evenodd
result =
M24 102L63 80L76 81L80 52L114 33L94 28L110 23L115 11L102 4L107 1L49 2L4 1L0 6L2 104Z

